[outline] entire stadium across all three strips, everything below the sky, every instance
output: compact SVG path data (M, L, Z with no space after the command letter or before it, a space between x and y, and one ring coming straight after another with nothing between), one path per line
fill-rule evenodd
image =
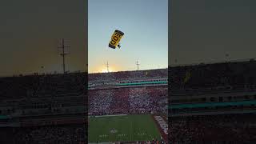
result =
M0 143L254 143L255 65L2 77Z

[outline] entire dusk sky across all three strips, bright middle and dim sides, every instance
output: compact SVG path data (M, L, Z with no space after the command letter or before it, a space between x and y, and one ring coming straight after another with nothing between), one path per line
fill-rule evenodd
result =
M89 72L106 71L107 61L119 71L136 70L136 60L145 70L166 68L168 62L222 62L226 54L230 60L256 57L256 1L169 1L170 14L167 3L89 0ZM67 70L86 70L86 7L84 0L2 1L0 76L62 72L58 38L71 39ZM113 50L108 42L116 29L125 35L121 49Z

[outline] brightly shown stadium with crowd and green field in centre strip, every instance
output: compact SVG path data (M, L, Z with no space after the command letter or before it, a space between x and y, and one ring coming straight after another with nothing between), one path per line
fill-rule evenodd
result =
M89 142L166 142L168 70L89 74Z

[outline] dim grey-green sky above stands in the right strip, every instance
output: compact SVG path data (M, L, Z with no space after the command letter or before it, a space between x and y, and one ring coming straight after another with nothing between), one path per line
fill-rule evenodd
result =
M169 8L170 65L256 58L256 1L177 0Z

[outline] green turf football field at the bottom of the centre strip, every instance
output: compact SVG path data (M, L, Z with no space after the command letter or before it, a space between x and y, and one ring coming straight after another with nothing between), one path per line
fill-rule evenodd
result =
M161 137L150 115L89 118L88 133L89 142L147 141Z

